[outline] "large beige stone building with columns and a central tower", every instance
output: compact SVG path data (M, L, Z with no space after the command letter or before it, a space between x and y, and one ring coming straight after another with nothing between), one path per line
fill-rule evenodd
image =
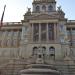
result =
M28 8L21 22L4 23L1 27L0 58L74 61L75 20L65 18L61 7L56 10L55 0L33 0L32 5L32 12Z

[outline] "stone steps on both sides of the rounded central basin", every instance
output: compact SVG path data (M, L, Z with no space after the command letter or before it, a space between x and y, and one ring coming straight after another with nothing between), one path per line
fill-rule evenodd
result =
M0 75L20 75L20 70L24 70L27 64L25 59L12 59L9 60L6 64L0 66ZM54 61L50 63L60 71L60 75L75 75L75 63L74 64L65 64L64 61Z

